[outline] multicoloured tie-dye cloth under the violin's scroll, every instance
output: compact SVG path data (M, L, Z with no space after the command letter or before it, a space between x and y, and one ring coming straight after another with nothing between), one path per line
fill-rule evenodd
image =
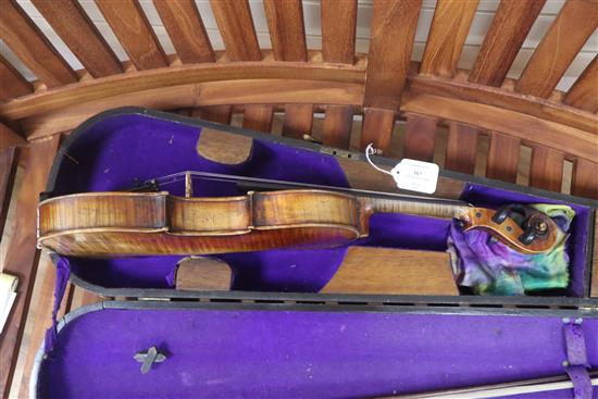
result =
M526 254L490 238L483 229L463 232L457 223L450 227L448 252L452 272L460 286L478 295L524 295L540 289L566 288L569 254L568 232L575 215L570 207L532 204L555 220L560 230L550 252Z

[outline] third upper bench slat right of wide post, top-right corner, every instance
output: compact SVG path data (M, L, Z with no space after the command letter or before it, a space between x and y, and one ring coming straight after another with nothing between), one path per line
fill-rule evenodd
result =
M568 1L527 62L516 91L548 98L596 27L598 2Z

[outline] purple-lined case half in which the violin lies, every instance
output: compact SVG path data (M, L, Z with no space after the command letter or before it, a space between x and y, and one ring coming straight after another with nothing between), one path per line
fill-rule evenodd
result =
M197 150L198 142L211 130L249 138L247 159L223 164ZM223 135L222 133L220 133ZM217 139L216 139L217 141ZM232 145L221 151L241 151ZM242 151L241 151L242 152ZM158 111L125 108L96 115L79 126L63 144L53 164L45 197L84 192L122 190L151 178L192 170L224 173L324 186L349 187L351 180L344 165L361 164L363 171L377 173L363 162L363 154L337 151L312 142L264 135L245 129L197 121ZM341 157L342 155L342 157ZM390 169L396 161L375 158ZM360 170L360 171L362 171ZM591 306L585 299L591 261L591 236L596 201L494 182L475 176L441 171L451 196L476 205L497 208L504 203L568 203L575 209L572 235L569 238L569 288L552 297L425 297L316 294L335 274L346 248L327 250L272 250L223 257L235 275L232 291L179 291L172 289L176 264L185 257L144 257L120 259L86 259L54 257L64 261L75 284L105 296L183 297L257 300L329 300L432 303L518 303L540 306ZM389 186L389 189L393 187ZM182 184L166 187L183 195ZM226 185L194 182L198 196L229 195ZM233 192L233 191L231 191ZM440 196L447 192L440 192ZM395 246L410 249L444 251L449 221L400 214L374 214L371 234L364 246ZM413 229L411 226L416 225ZM409 227L409 228L407 228ZM300 252L300 253L298 253ZM545 300L547 299L547 300Z

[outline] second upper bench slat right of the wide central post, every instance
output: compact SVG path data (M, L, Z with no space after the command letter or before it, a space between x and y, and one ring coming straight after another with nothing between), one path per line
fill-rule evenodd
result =
M502 0L473 65L469 80L500 86L546 0Z

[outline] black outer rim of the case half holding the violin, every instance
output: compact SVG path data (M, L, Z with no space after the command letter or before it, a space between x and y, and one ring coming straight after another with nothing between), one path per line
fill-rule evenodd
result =
M61 150L54 160L53 167L50 172L46 192L41 195L41 199L46 199L54 190L54 182L59 172L62 159L68 153L68 149L80 135L85 135L89 126L99 123L114 115L139 114L151 117L172 121L191 126L212 128L223 130L236 135L260 139L263 141L276 142L294 148L307 149L311 151L331 154L337 158L346 158L356 161L365 161L365 155L360 152L336 150L329 147L320 146L314 142L296 140L274 135L251 132L229 125L222 125L197 119L185 117L176 114L164 113L141 108L122 108L102 112L82 124L75 129L68 138L62 144ZM391 169L396 161L383 157L373 157L373 160L385 169ZM239 306L251 306L251 303L272 304L277 309L294 309L296 304L316 306L319 309L325 307L327 310L340 310L339 306L384 306L388 309L403 311L404 307L438 307L451 308L454 311L469 312L471 308L481 308L485 311L493 312L496 308L514 308L515 312L520 308L527 309L578 309L582 312L598 312L598 298L589 298L589 282L591 273L591 253L594 253L594 225L596 217L596 208L598 201L584 199L551 191L540 190L532 187L522 187L509 183L491 180L485 177L471 176L466 174L440 171L440 176L458 182L468 182L477 185L485 185L498 189L504 189L514 192L530 194L534 196L545 197L552 200L571 202L584 207L591 208L590 217L587 224L587 253L584 278L584 296L582 298L573 297L540 297L540 296L406 296L406 295L333 295L333 294L292 294L292 292L262 292L262 291L180 291L176 289L147 289L147 288L105 288L102 286L90 284L75 273L71 274L71 282L87 290L97 292L105 297L127 298L132 300L166 300L174 301L197 301L207 300L215 302L214 307L219 307L222 302L238 302ZM52 260L57 261L57 257L52 255ZM250 302L250 303L240 303Z

